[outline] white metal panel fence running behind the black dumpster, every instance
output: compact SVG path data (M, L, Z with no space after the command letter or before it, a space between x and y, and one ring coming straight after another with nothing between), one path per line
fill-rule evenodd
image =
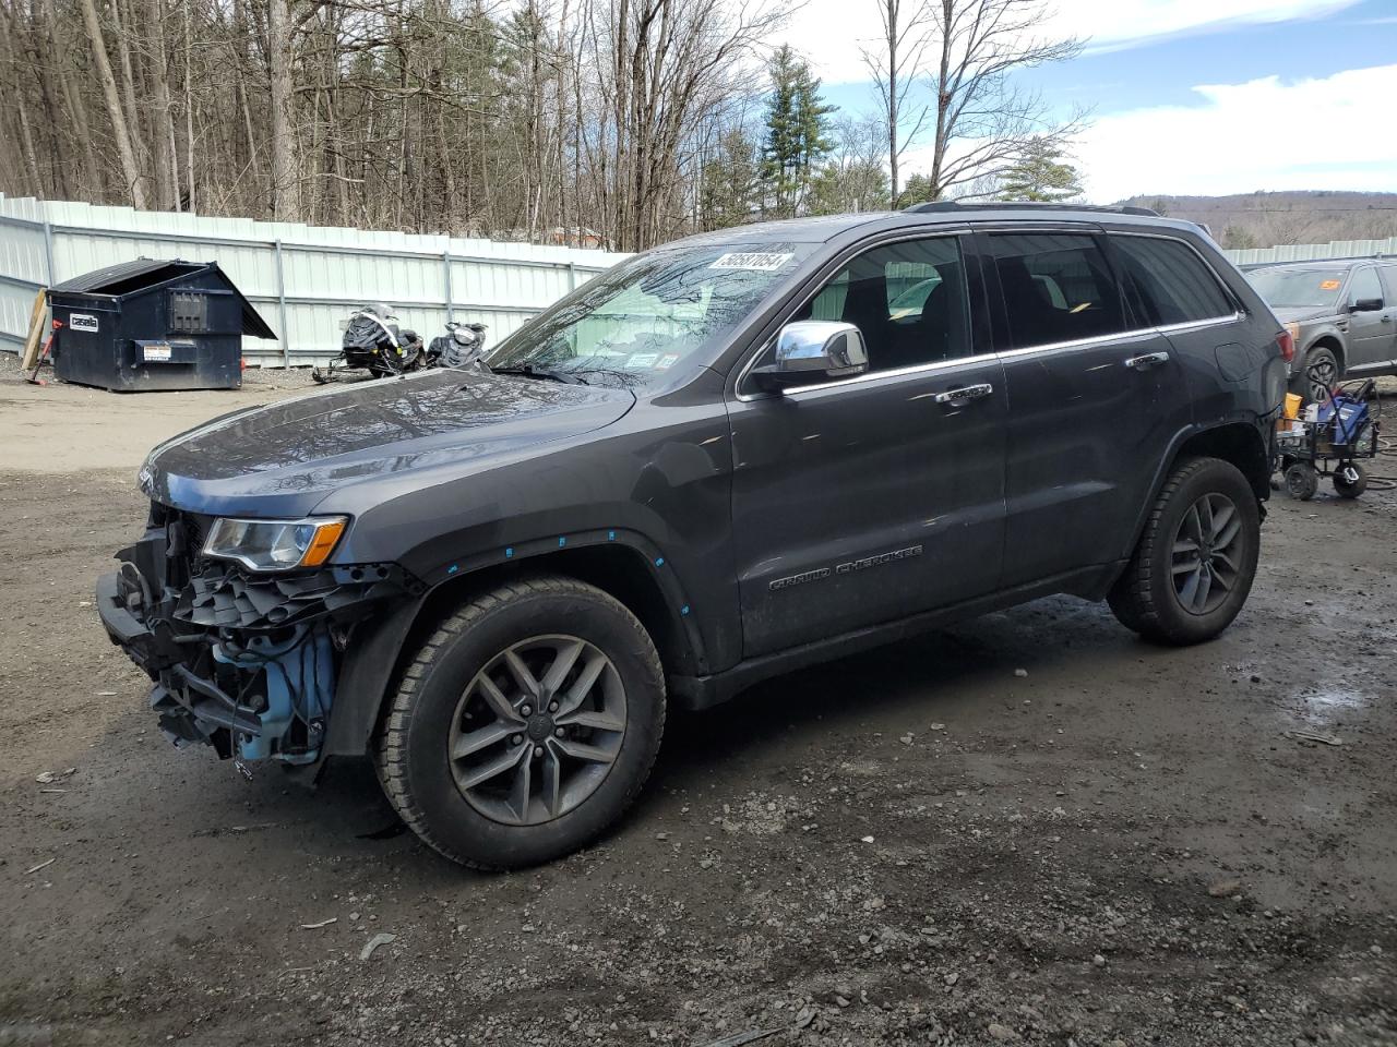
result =
M22 345L39 288L142 257L217 261L279 336L244 339L247 362L296 364L337 353L341 321L373 302L427 341L455 317L493 343L626 255L0 194L0 349Z

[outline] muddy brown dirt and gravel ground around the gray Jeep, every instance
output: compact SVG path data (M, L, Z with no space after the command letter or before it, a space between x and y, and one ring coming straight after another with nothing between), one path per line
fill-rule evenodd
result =
M149 443L299 387L0 374L0 1044L1397 1044L1393 491L1277 496L1208 645L1051 599L672 718L482 875L172 750L91 606Z

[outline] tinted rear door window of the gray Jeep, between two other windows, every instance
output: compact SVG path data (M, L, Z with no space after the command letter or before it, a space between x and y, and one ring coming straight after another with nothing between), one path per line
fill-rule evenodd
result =
M1013 349L1126 329L1105 254L1087 233L990 233Z

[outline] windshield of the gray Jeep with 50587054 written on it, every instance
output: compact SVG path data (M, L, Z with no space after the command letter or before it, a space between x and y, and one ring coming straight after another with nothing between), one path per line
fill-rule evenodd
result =
M637 255L521 327L485 363L581 381L654 381L731 331L816 246L728 243Z

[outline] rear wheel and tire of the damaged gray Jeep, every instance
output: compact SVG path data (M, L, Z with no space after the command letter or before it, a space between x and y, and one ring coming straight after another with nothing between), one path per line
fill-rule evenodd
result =
M1130 563L1106 597L1126 628L1157 644L1213 639L1256 577L1261 517L1242 472L1193 458L1165 482Z

